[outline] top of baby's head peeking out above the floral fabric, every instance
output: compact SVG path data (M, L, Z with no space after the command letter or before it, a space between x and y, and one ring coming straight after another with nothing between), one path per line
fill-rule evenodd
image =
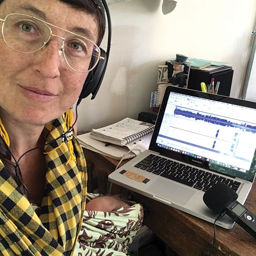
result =
M103 195L98 196L91 201L89 201L85 210L87 211L99 211L99 212L112 212L115 209L120 209L121 207L131 206L132 204L128 201L122 200L115 196Z

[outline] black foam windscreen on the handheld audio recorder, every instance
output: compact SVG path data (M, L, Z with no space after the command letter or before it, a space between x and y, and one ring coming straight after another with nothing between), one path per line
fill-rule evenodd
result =
M220 213L227 205L238 198L236 192L224 183L213 185L204 193L204 203L214 213Z

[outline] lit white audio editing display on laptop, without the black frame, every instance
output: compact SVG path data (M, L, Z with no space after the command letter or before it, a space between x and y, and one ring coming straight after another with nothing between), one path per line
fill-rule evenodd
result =
M157 143L245 173L256 147L256 110L170 93Z

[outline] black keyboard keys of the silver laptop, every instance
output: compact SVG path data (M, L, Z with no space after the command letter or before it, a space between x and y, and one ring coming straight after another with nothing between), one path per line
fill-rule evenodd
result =
M238 181L154 154L150 154L148 157L144 158L140 163L137 163L135 167L202 191L207 191L212 185L218 182L225 183L234 191L237 191L241 184Z

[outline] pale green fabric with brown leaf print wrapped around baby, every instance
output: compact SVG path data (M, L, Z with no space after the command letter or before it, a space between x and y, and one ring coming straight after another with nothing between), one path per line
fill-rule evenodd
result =
M87 202L99 194L87 193ZM77 256L125 256L143 221L141 204L112 212L84 211L76 242Z

